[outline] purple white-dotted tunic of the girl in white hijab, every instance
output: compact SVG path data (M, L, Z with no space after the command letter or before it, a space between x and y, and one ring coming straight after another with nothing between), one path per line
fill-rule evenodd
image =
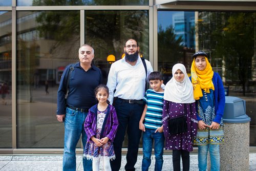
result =
M168 129L169 118L175 118L184 114L186 114L187 132L170 135ZM197 135L196 102L175 103L164 100L162 122L163 133L166 139L165 149L193 151L193 140Z

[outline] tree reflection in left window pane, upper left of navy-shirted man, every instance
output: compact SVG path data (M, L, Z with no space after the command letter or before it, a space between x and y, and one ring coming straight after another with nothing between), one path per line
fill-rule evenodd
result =
M78 60L80 13L77 11L42 11L36 17L39 36L51 42L49 53L54 58ZM51 41L52 40L52 41Z

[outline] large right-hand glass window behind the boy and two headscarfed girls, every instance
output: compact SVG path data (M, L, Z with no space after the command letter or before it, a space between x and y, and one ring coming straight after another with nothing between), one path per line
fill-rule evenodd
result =
M190 73L191 55L198 50L207 52L228 95L246 100L250 145L256 145L255 16L255 12L158 11L158 70L164 83L172 78L175 63L183 63ZM177 32L182 24L185 31Z

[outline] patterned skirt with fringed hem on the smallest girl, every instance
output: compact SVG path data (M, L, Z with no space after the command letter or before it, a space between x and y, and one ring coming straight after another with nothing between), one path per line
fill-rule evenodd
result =
M96 138L100 139L101 129L96 129ZM92 140L86 143L84 147L83 157L87 159L116 158L113 143L108 141L102 146L97 146Z

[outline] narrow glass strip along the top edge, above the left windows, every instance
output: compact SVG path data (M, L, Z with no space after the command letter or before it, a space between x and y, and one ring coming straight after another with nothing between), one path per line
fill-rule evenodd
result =
M10 0L9 0L10 1ZM0 1L1 2L1 1ZM17 6L111 6L111 5L148 5L148 0L76 0L76 1L45 1L45 0L17 0Z

